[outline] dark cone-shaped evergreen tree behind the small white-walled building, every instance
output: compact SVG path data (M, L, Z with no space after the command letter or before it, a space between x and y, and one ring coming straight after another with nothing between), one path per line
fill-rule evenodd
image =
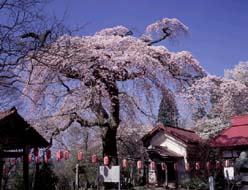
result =
M176 105L175 96L170 90L163 93L159 105L158 122L165 126L178 127L179 112Z

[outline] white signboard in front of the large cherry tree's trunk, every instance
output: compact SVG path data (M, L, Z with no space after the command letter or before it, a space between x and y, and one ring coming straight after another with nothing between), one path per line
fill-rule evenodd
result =
M120 182L120 166L100 166L100 178L103 182L119 183Z

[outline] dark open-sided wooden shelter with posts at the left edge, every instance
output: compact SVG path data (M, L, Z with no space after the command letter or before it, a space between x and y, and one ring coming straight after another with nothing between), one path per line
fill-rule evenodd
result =
M0 189L4 158L23 157L25 190L29 189L28 151L50 144L12 108L0 113Z

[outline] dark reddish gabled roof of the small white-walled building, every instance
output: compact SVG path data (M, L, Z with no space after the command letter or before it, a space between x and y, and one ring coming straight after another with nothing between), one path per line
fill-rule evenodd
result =
M172 135L174 138L183 141L184 143L191 144L191 143L199 143L203 140L194 132L187 129L177 128L177 127L169 127L158 125L157 127L153 128L148 134L146 134L142 140L145 141L146 139L151 138L156 132L163 130L164 132Z

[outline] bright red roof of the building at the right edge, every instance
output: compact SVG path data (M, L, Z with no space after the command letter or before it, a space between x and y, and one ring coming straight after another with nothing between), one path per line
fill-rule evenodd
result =
M231 117L232 125L210 142L212 147L248 145L248 115Z

